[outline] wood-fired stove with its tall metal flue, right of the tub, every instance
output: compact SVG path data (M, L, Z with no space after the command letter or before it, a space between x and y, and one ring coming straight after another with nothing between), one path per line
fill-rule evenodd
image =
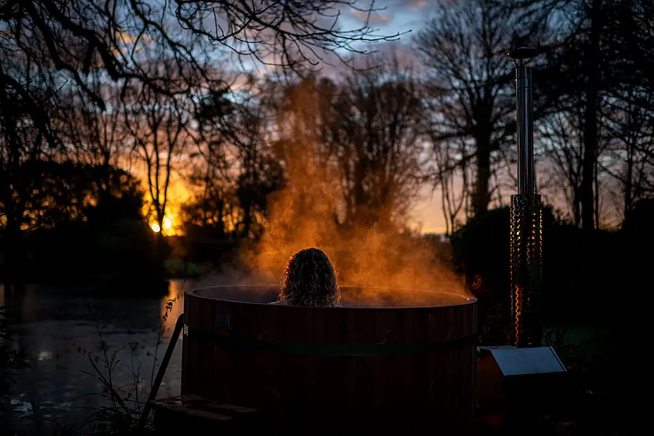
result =
M511 345L478 347L477 405L480 425L530 434L537 415L556 404L565 366L543 347L541 197L536 194L531 68L536 50L520 47L515 60L518 193L511 196Z

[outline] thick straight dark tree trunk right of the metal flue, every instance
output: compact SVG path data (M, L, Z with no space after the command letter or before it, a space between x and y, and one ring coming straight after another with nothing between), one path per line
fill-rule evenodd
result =
M593 192L595 165L597 161L597 106L598 106L598 79L600 62L600 17L601 0L593 0L590 10L591 30L590 47L585 59L586 82L586 107L584 113L583 128L583 168L581 178L581 228L592 230L595 228L595 196Z

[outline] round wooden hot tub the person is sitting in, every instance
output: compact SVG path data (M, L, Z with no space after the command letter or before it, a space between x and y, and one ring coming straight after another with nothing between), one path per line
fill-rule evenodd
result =
M185 292L183 395L294 410L319 419L327 433L471 428L475 299L344 287L342 308L267 304L277 292L273 286ZM342 426L325 424L334 422Z

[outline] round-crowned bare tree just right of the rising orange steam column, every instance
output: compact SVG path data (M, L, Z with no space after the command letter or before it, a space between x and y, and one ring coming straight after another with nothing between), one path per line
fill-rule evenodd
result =
M373 67L384 64L384 67ZM423 177L425 144L419 85L396 54L369 58L344 78L325 138L343 196L341 223L383 228L406 223ZM334 131L336 129L336 131Z

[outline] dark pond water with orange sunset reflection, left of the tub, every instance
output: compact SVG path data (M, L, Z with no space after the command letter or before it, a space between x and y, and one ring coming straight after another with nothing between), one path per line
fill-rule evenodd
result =
M172 281L165 297L153 299L97 298L65 288L0 285L0 306L6 306L16 345L32 365L14 385L14 420L20 426L39 420L82 422L90 408L104 404L97 395L102 383L93 364L105 374L110 366L115 387L145 398L156 370L154 356L163 357L183 312L183 290L191 287L189 282ZM167 324L161 330L159 321L166 312ZM178 395L180 369L178 343L159 397Z

